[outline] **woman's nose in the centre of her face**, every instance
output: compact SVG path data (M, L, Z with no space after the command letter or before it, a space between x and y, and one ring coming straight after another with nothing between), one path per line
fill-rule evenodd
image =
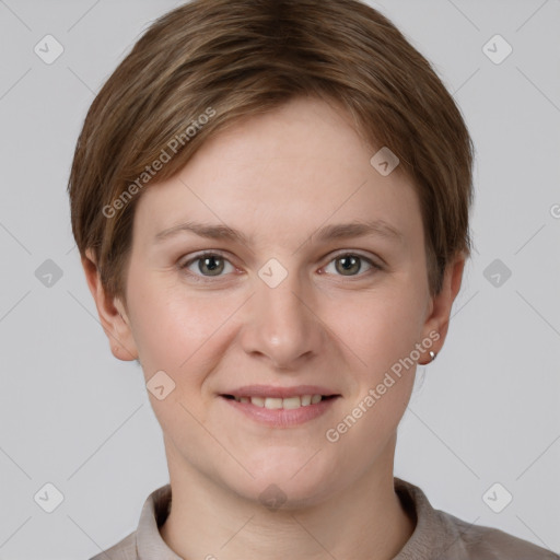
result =
M326 340L311 288L292 272L271 288L256 278L242 346L248 354L267 360L276 369L295 370L318 355Z

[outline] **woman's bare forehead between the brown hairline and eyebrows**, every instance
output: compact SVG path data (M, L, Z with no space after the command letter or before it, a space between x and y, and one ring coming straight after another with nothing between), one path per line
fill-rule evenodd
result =
M135 237L192 219L288 240L330 222L384 220L421 234L416 192L399 170L370 163L349 115L296 98L210 138L174 177L151 185L137 207ZM418 230L420 228L420 232Z

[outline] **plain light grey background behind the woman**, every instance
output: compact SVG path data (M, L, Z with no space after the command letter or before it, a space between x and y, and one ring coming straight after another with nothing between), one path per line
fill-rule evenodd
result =
M179 3L0 0L0 559L90 558L168 480L141 371L97 322L66 185L95 92ZM432 61L477 148L476 250L445 347L418 369L395 474L559 551L560 1L371 3ZM65 48L51 65L34 52L46 34ZM513 47L500 65L482 50L495 34ZM63 494L52 513L34 501L46 482ZM501 513L482 499L494 482L513 494Z

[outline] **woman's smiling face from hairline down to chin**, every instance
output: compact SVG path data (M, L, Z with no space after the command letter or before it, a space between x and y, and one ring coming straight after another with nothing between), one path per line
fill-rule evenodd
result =
M294 100L142 194L128 315L108 328L165 387L149 396L171 472L318 503L392 467L410 362L440 350L462 268L430 296L417 195L372 166L377 149L341 109Z

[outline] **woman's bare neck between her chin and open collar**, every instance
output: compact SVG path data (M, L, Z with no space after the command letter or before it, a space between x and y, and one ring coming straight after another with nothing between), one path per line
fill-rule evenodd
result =
M396 442L393 442L396 443ZM185 560L390 560L415 521L395 493L393 453L351 487L306 508L267 510L199 471L170 464L172 509L160 534ZM170 456L168 459L172 459Z

